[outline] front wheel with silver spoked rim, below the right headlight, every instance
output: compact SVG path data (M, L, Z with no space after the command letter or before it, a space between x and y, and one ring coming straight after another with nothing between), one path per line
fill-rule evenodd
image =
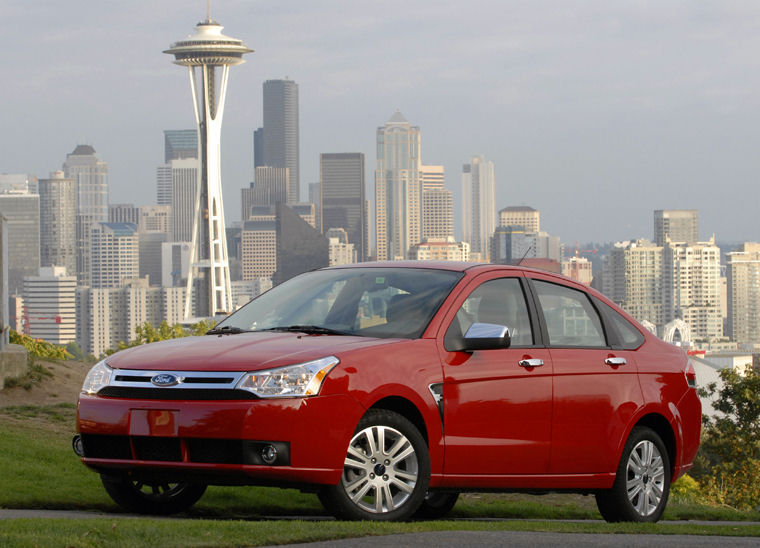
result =
M370 409L348 444L340 482L318 496L339 519L404 520L422 504L429 482L430 456L419 430L398 413Z

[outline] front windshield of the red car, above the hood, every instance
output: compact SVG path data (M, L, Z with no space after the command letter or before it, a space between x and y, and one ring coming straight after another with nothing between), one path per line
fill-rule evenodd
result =
M417 338L462 276L462 272L425 268L307 272L252 300L214 331Z

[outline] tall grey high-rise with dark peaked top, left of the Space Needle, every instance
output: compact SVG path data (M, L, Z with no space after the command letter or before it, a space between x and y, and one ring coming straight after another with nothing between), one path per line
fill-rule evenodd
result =
M108 165L92 146L77 145L66 155L63 174L77 181L77 283L90 285L91 230L108 221Z

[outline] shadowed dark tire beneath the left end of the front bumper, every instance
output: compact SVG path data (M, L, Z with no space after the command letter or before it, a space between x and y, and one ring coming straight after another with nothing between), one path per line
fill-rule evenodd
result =
M183 512L206 491L199 483L142 482L128 476L101 475L103 487L113 501L137 514L167 515Z

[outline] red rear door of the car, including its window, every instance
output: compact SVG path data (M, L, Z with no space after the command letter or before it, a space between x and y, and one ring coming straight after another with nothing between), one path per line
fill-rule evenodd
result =
M580 287L531 278L554 365L549 472L613 472L621 437L642 403L634 352L614 344L614 328Z

